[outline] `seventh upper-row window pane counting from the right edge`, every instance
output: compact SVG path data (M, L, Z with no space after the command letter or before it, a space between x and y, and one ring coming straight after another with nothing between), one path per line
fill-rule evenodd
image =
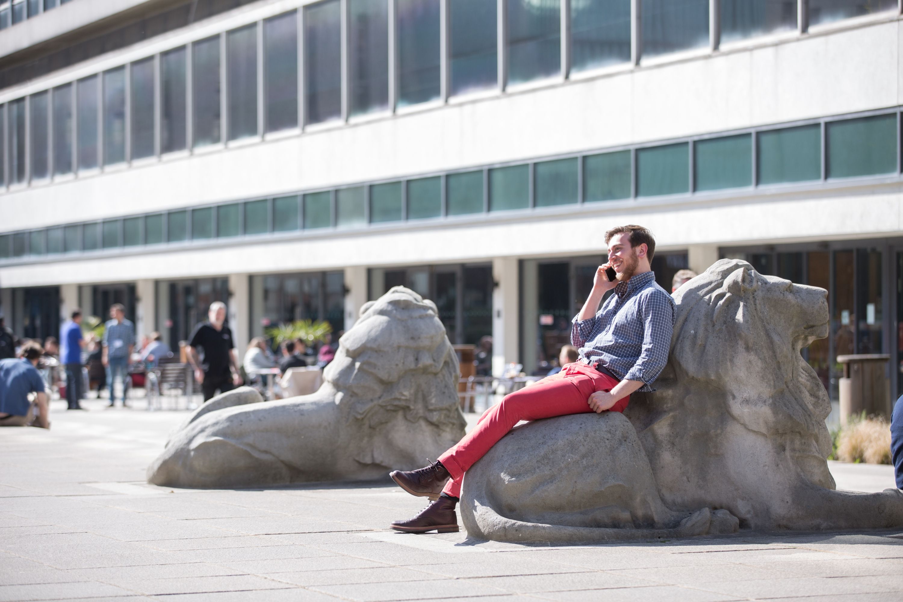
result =
M398 105L438 98L439 0L396 0Z

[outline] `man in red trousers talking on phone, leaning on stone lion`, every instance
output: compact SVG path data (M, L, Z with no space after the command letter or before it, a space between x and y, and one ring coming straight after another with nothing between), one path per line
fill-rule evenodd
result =
M651 385L667 363L675 323L675 301L656 284L650 267L656 240L645 227L629 225L611 228L605 242L609 261L596 270L590 295L572 320L571 342L579 349L578 361L507 394L430 466L393 471L390 477L407 493L435 500L413 519L392 523L393 529L458 531L455 505L464 475L518 421L623 412L630 394L655 391ZM609 267L617 274L614 281L606 275ZM614 294L599 310L602 297L611 290Z

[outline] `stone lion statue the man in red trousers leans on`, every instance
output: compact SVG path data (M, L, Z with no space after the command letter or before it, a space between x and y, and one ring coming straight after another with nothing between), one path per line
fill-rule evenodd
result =
M836 491L831 403L800 354L828 335L827 292L721 260L674 294L656 393L624 415L536 421L464 478L471 536L603 542L903 526L903 492Z

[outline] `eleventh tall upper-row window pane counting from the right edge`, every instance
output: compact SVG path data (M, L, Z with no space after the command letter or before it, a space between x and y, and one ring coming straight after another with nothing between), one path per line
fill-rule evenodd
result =
M226 35L228 139L257 135L257 26Z

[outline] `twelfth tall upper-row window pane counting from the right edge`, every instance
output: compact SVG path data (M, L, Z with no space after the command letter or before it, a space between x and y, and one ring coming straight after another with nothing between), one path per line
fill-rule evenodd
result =
M193 144L218 143L219 134L219 35L191 46ZM254 89L257 89L256 82Z

